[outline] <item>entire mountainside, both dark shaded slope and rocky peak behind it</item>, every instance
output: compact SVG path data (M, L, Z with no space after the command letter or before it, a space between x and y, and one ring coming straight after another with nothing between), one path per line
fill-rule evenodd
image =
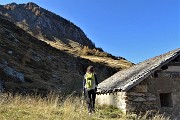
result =
M25 94L80 92L89 65L99 82L133 65L96 48L79 27L31 2L0 5L0 26L0 89L5 83L7 91Z

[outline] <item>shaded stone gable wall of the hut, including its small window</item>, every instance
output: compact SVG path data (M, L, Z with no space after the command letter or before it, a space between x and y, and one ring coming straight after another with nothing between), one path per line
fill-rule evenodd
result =
M127 92L126 111L180 115L180 62L170 62Z

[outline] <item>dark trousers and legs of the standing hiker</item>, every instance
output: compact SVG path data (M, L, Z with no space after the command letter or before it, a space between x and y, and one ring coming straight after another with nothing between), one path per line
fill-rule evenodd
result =
M96 99L96 91L92 90L85 90L86 102L88 105L88 112L95 112L95 99Z

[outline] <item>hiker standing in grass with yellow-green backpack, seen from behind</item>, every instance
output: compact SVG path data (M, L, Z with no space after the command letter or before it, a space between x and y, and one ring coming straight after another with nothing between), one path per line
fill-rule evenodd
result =
M88 105L88 112L91 114L95 112L95 99L96 99L96 90L97 90L97 77L94 72L94 67L89 66L87 68L86 74L83 79L83 93Z

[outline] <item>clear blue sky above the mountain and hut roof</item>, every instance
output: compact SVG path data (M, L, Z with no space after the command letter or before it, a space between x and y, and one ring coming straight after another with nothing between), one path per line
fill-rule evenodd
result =
M34 2L79 26L97 47L138 63L180 48L179 0L0 0Z

